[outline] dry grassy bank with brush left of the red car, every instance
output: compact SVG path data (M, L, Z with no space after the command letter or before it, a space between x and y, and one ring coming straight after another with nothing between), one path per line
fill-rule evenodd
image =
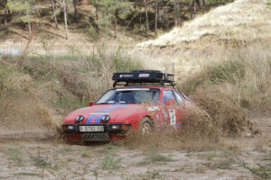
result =
M22 139L29 133L56 136L65 115L112 87L114 72L142 68L121 49L106 47L91 56L28 57L23 67L17 58L0 58L0 137L10 139L20 133Z

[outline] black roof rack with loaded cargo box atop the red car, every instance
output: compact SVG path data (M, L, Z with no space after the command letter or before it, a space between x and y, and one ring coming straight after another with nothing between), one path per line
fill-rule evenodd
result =
M172 85L174 86L174 75L163 73L160 70L135 70L130 73L114 73L113 87L125 83L129 85Z

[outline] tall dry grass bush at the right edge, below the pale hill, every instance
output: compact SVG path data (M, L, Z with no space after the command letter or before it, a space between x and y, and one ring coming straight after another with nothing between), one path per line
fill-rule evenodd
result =
M262 109L271 104L270 45L255 43L235 49L229 59L204 67L179 88L185 94L216 89L224 100L243 108Z

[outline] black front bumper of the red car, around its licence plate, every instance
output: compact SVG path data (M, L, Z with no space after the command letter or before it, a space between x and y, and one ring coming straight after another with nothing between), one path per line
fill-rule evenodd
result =
M131 128L130 123L95 123L95 124L81 124L81 123L64 123L62 124L62 130L67 134L85 133L79 131L79 126L103 126L104 131L110 134L121 133L124 134ZM116 128L118 127L118 128ZM88 132L95 133L95 132Z

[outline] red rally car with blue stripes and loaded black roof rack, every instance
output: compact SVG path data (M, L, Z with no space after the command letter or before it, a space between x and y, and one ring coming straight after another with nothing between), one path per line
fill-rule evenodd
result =
M183 106L189 101L173 87L172 74L137 70L115 73L112 79L113 88L97 102L66 116L62 130L67 139L109 141L122 139L129 130L145 135L169 127L181 129Z

